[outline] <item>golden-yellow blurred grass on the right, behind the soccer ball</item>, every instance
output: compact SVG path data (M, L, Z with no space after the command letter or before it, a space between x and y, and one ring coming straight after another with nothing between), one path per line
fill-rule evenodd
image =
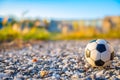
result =
M85 31L73 31L67 34L58 34L56 40L79 40L79 39L95 39L95 38L104 38L104 39L120 39L120 31L110 30L107 33L99 33L92 29Z

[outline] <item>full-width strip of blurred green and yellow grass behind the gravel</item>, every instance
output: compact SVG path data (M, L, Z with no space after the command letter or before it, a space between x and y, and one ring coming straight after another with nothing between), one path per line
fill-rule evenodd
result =
M0 42L13 41L21 39L28 40L79 40L92 38L108 38L120 39L119 30L110 30L108 33L96 32L94 28L86 29L85 31L71 31L67 33L50 33L44 28L31 28L27 33L15 31L12 27L4 27L0 29Z

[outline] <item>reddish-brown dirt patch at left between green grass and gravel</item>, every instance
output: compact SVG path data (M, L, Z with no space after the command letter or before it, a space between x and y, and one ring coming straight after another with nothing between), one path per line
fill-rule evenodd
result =
M43 41L40 40L30 40L30 41L23 41L23 40L14 40L11 42L2 42L0 43L0 52L1 51L7 51L10 49L22 49L24 47L30 47L34 44L40 44Z

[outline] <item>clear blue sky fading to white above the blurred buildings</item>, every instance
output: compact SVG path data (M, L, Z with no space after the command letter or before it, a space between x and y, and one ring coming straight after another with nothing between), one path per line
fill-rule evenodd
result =
M0 16L10 15L55 19L118 16L120 0L0 0Z

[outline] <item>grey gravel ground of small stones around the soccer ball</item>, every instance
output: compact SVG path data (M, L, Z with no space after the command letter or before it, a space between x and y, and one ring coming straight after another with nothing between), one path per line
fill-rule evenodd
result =
M0 52L0 80L120 80L120 40L112 67L98 69L84 58L88 41L48 41Z

